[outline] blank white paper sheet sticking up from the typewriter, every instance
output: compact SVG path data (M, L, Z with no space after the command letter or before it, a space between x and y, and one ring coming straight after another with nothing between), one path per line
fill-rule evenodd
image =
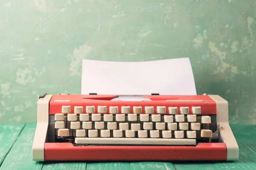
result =
M81 94L196 95L189 58L145 62L83 60Z

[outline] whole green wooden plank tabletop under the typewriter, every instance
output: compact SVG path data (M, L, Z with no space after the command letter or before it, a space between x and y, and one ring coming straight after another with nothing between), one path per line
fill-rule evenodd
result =
M256 126L230 125L239 161L37 162L32 161L36 123L0 124L0 170L255 170Z

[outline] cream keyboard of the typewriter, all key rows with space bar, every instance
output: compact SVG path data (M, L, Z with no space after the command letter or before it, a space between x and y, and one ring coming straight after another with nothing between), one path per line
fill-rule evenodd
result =
M62 106L62 113L50 115L50 125L54 125L54 142L72 141L74 144L139 144L139 145L196 145L200 142L212 142L217 131L216 116L201 113L200 107L157 106L130 108L111 106ZM49 128L51 129L51 128ZM50 138L51 139L51 138Z

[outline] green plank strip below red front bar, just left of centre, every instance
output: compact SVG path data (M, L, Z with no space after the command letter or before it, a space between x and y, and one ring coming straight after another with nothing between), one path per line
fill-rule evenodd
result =
M86 170L130 170L128 162L88 162Z

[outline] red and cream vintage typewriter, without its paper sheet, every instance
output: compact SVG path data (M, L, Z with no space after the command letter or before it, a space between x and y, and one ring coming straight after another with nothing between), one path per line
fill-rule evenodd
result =
M239 159L218 95L72 95L38 99L35 161Z

